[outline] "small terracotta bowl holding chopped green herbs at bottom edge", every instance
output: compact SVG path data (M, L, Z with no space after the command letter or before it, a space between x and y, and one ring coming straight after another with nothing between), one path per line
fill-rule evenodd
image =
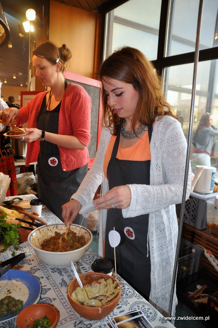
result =
M26 328L28 324L33 326L34 321L32 320L37 320L45 316L52 322L50 328L54 328L60 318L60 313L54 306L46 303L29 305L18 314L16 319L17 328Z

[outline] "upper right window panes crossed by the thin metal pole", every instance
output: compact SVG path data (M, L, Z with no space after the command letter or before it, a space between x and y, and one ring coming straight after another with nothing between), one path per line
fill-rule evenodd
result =
M200 50L218 45L217 9L217 0L204 1ZM194 51L198 12L199 0L172 0L166 56Z

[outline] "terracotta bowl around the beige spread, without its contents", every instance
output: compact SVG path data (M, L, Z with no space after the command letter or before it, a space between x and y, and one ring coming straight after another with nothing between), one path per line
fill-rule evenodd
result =
M84 286L89 283L90 278L93 278L94 280L98 280L103 277L105 279L111 278L114 281L116 281L115 278L113 278L109 275L106 275L104 273L88 272L88 273L84 273L84 274L80 275L80 279ZM120 288L120 284L118 282L117 282L117 285ZM71 297L71 294L78 286L79 286L79 284L78 284L76 278L71 280L67 287L67 297L68 297L69 303L72 306L73 310L76 313L78 313L79 315L81 315L83 318L88 319L88 320L101 320L101 319L107 317L115 309L115 307L121 297L121 288L120 288L120 292L116 295L116 297L114 299L112 299L112 301L109 304L103 305L100 307L86 306L86 305L77 303Z

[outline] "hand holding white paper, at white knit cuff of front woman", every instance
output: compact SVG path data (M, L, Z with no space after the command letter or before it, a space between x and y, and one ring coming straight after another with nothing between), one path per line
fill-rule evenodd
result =
M126 209L131 203L131 191L129 186L118 186L109 190L104 196L93 201L96 210ZM113 206L112 206L113 205Z

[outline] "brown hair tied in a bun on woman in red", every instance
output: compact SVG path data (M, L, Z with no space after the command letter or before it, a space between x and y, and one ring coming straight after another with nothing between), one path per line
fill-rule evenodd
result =
M67 63L72 57L70 49L63 44L62 47L58 48L53 42L46 41L39 45L32 52L33 55L41 58L45 58L52 65L57 63L57 60L62 64L61 72L63 73L67 67Z

